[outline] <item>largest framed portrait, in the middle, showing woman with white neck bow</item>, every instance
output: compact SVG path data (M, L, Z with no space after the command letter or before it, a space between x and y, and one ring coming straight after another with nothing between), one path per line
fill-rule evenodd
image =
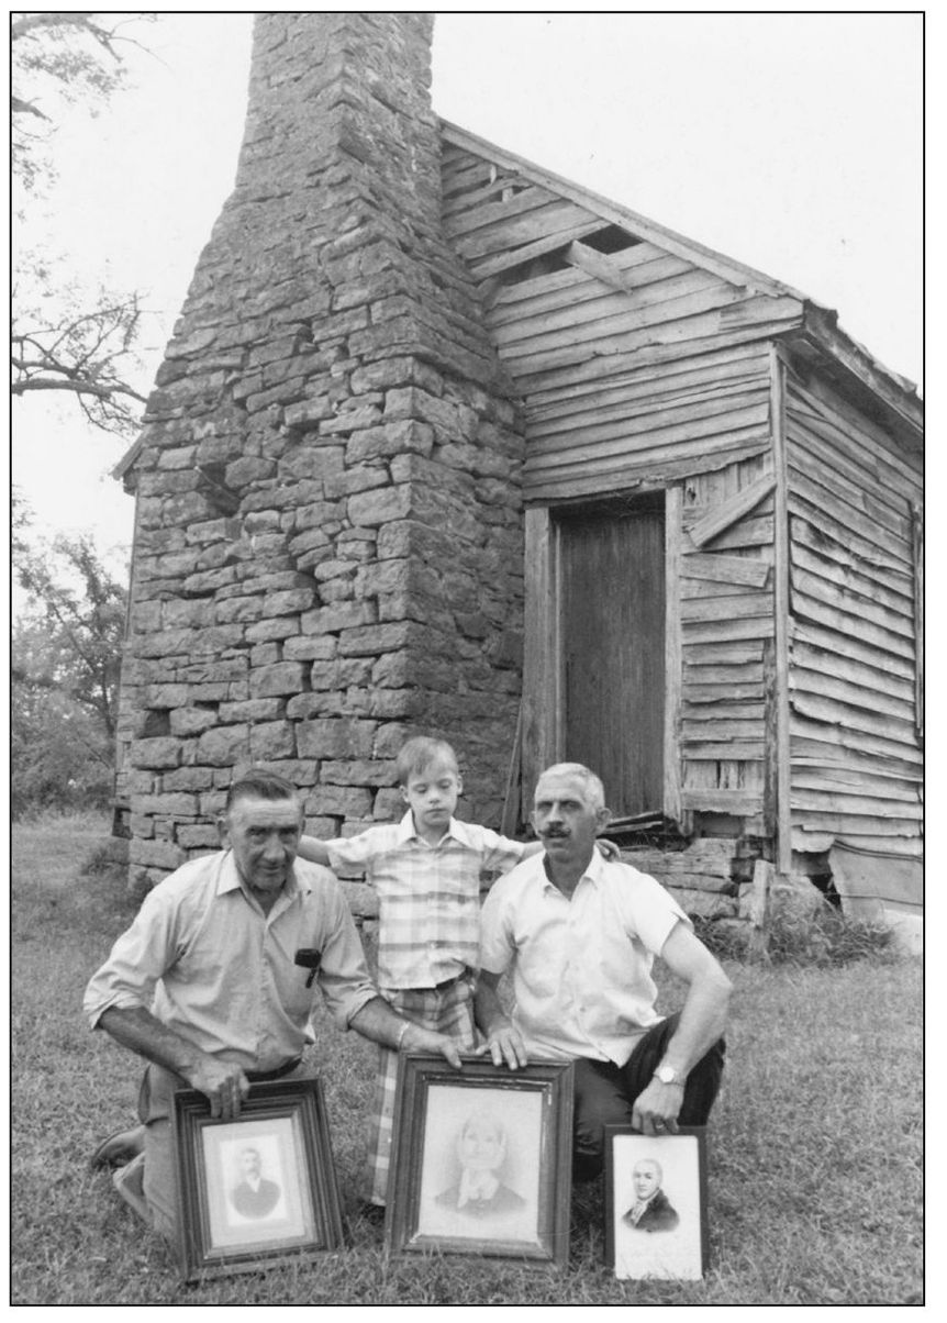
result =
M417 1053L398 1065L385 1246L562 1266L569 1254L573 1065L518 1070Z

